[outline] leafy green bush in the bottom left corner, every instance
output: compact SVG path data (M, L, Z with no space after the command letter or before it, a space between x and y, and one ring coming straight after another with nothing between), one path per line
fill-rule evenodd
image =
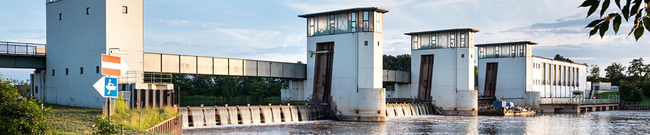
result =
M49 107L33 98L21 98L18 89L0 76L0 134L49 134L45 117Z

